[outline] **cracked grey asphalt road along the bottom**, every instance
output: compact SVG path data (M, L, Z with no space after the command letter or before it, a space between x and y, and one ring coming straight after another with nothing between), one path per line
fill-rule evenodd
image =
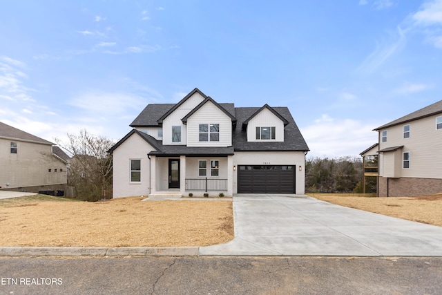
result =
M441 294L442 258L0 258L0 294Z

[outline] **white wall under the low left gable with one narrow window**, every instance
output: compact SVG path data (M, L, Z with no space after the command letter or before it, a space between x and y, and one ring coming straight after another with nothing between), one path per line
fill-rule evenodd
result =
M148 196L150 161L147 154L151 151L153 147L136 133L113 151L113 198ZM131 160L141 160L140 183L131 183Z

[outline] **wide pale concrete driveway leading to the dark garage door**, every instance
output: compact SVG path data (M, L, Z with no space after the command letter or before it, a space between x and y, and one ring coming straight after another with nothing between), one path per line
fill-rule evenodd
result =
M309 196L233 197L235 238L200 255L442 256L442 227Z

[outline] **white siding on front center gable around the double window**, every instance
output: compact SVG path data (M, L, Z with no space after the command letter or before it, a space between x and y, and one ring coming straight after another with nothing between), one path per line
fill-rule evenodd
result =
M219 142L200 142L200 124L220 124ZM212 102L206 102L198 111L187 120L187 146L231 146L232 122L231 118L221 111Z

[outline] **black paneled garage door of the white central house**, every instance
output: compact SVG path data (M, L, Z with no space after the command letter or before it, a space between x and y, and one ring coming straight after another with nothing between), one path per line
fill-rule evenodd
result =
M295 193L295 166L238 165L238 193Z

